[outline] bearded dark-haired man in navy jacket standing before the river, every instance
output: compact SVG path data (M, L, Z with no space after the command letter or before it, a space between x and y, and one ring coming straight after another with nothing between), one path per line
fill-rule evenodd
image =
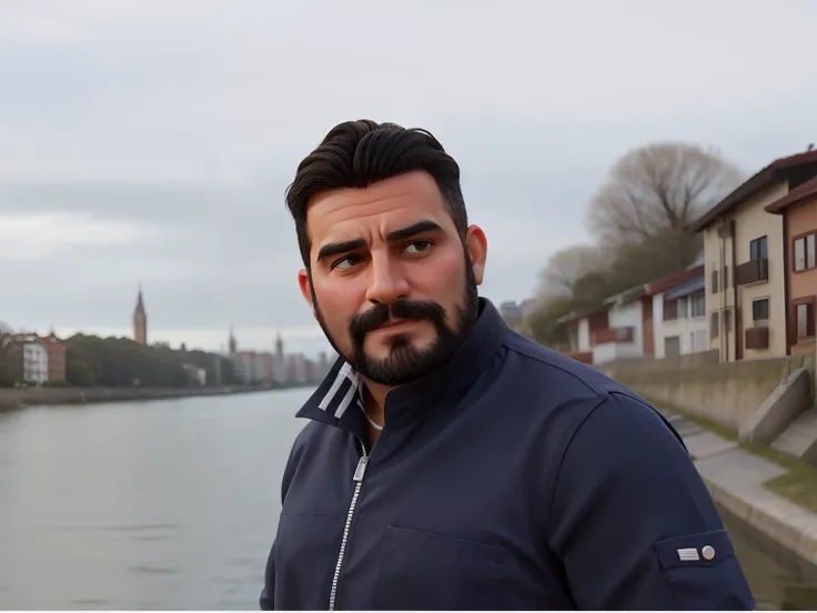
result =
M353 121L286 195L341 356L297 413L262 609L752 609L675 431L477 295L487 240L427 132Z

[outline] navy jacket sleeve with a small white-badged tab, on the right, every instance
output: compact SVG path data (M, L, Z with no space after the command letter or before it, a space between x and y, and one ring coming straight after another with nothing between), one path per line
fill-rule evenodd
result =
M549 547L589 610L752 610L732 541L692 458L648 404L611 393L574 432Z

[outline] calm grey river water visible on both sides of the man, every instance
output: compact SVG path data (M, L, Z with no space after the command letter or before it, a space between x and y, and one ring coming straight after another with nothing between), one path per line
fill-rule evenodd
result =
M256 609L309 393L0 412L0 609ZM759 609L817 609L816 569L725 519Z

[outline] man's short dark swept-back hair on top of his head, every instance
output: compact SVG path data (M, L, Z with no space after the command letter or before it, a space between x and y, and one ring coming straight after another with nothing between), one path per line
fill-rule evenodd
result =
M365 188L414 170L424 170L434 178L464 239L468 218L460 187L460 167L430 132L370 119L345 121L330 130L297 165L295 180L286 189L286 207L295 220L306 269L311 249L306 232L310 198L329 190Z

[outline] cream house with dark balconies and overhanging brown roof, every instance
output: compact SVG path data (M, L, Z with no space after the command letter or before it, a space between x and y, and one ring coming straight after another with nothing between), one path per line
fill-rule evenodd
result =
M815 177L817 151L779 158L693 224L693 230L704 234L709 346L719 351L722 362L789 353L786 262L795 249L803 249L804 265L808 265L807 249L814 240L809 243L807 233L798 231L797 238L804 241L795 247L785 229L785 215L769 214L774 211L767 207L785 202ZM780 212L786 209L780 205ZM806 334L813 329L808 328L813 311L813 306L798 310L805 318Z

